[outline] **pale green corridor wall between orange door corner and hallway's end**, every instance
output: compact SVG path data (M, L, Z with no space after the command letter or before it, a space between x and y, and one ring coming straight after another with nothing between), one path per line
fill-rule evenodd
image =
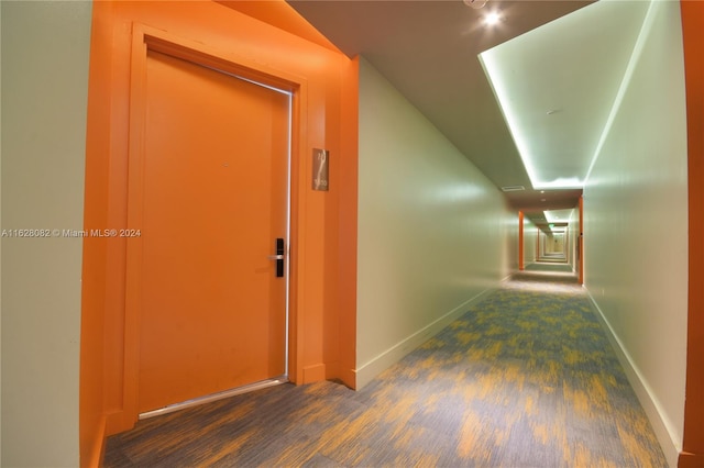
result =
M517 214L366 60L360 64L356 379L362 387L507 275ZM515 229L514 229L515 227Z

